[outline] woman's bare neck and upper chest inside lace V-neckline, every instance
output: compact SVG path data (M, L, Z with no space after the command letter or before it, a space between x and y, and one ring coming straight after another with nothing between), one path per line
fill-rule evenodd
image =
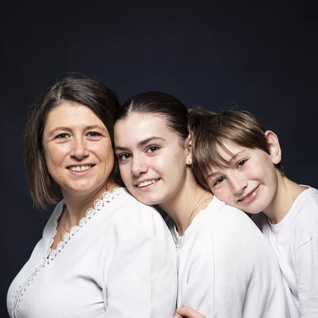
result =
M67 208L67 227L71 228L78 225L81 218L86 216L86 211L93 207L93 203L97 199L102 199L105 191L112 191L115 184L113 182L105 182L99 188L90 193L80 193L76 191L67 191L61 188L65 205Z

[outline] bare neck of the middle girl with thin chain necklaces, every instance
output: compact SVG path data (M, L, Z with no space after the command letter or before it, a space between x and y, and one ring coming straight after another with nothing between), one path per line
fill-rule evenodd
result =
M196 203L197 209L192 214L188 227L193 218L199 211L205 209L211 200L202 202L211 197L213 197L213 194L210 191L206 191L197 183L190 170L187 173L186 182L183 184L183 187L177 193L174 193L171 198L158 205L172 218L176 224L178 234L181 236L186 229L189 217ZM201 205L199 206L199 204Z

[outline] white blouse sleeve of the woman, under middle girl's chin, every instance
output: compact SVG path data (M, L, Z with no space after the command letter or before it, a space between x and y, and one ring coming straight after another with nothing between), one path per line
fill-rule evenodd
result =
M176 250L154 208L138 204L115 213L98 267L105 317L174 315Z

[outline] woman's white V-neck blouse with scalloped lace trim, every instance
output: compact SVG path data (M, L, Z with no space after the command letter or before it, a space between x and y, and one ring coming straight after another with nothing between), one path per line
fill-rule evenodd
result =
M159 212L115 188L51 250L63 204L11 283L10 317L171 318L176 247Z

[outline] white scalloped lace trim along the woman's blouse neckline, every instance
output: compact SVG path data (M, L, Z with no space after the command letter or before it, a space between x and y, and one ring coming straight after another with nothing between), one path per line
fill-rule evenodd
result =
M83 227L83 225L86 224L86 222L92 218L93 215L99 210L101 210L107 203L114 200L115 197L118 197L120 195L120 191L122 188L114 188L113 193L110 192L104 192L103 198L101 200L95 200L94 201L94 208L89 208L86 211L86 216L81 218L79 221L79 225L74 225L69 233L65 233L63 236L63 241L59 241L56 250L51 250L51 246L54 243L54 237L56 235L56 228L58 225L58 222L55 224L55 228L52 231L51 238L47 247L47 252L45 254L45 260L43 263L35 267L33 272L29 275L29 277L24 280L24 282L17 287L16 293L14 294L13 302L12 302L12 317L13 318L19 318L19 304L21 301L21 297L23 296L24 292L26 291L27 287L31 284L34 277L47 265L49 265L56 257L59 255L59 253L63 250L64 246L69 242L69 240L74 236L74 234ZM62 209L63 210L63 209ZM61 210L61 213L62 213Z

